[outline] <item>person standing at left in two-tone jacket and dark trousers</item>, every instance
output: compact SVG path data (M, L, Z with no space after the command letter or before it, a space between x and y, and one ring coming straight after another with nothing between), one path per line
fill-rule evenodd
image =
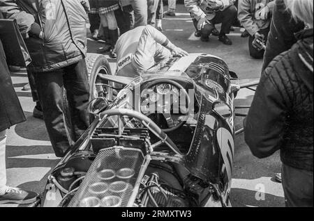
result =
M17 21L27 44L32 59L27 69L36 81L47 132L59 157L89 126L86 10L88 1L0 0L3 16Z

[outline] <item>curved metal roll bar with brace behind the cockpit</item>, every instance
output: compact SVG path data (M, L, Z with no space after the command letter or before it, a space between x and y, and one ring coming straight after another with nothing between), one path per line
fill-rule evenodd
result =
M122 136L122 129L121 129L121 117L123 116L127 116L127 117L134 117L137 120L140 120L140 122L147 127L147 129L149 129L152 133L154 133L154 135L160 139L160 141L152 144L151 146L154 147L158 147L160 145L162 145L163 143L165 143L168 147L170 147L170 149L172 149L172 151L176 154L180 154L182 155L182 153L180 152L180 150L178 149L177 145L174 144L174 142L167 136L167 134L165 134L159 126L157 126L157 124L155 124L155 122L151 119L149 119L149 117L143 115L140 112L137 111L133 111L130 109L126 109L126 108L115 108L115 109L110 109L107 111L104 111L103 113L100 114L100 119L103 119L103 117L110 117L110 116L118 116L118 133L119 136Z

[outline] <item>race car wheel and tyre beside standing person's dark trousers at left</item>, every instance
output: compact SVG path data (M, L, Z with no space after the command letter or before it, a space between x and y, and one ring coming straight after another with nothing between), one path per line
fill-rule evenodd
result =
M85 58L89 76L89 101L96 97L112 99L112 89L106 85L110 82L100 79L99 74L112 75L109 62L103 54L89 53Z

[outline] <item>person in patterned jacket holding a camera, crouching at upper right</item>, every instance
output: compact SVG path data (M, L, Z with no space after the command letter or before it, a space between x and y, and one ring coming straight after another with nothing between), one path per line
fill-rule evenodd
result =
M241 25L250 34L248 38L248 50L252 58L260 59L264 56L262 45L255 44L260 41L267 43L269 26L271 23L273 0L240 0L238 15Z

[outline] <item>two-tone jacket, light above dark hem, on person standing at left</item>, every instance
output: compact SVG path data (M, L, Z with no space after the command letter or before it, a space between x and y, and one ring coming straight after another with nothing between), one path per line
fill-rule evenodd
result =
M87 51L87 7L80 0L0 0L7 19L16 19L33 62L29 69L45 72L82 60ZM43 31L44 39L38 38ZM29 38L28 38L29 37Z

